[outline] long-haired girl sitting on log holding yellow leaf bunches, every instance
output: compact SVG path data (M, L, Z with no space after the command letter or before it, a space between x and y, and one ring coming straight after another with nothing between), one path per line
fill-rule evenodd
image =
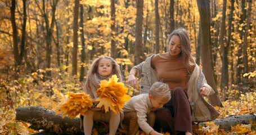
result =
M100 86L98 85L101 80L111 78L115 74L122 82L122 75L119 65L116 61L108 56L100 57L92 62L88 71L88 77L84 84L84 89L87 94L92 98L98 98L96 91ZM93 121L103 121L109 123L109 135L114 135L120 123L120 113L109 111L102 113L101 109L92 108L86 111L84 116L80 116L81 127L84 127L84 134L91 134Z

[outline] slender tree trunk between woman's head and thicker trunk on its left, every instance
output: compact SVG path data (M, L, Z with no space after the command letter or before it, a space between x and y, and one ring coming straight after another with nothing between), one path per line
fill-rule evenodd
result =
M159 53L159 12L158 12L158 0L155 0L155 53Z

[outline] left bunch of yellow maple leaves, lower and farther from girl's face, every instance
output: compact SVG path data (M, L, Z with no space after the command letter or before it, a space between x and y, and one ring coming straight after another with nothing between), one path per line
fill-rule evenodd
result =
M89 107L92 106L92 100L85 93L68 92L69 98L62 98L56 108L56 114L63 113L63 117L75 118L79 113L84 115Z

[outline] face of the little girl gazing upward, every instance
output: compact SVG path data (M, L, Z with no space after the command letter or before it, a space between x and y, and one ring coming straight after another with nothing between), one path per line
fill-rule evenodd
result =
M102 59L98 62L98 74L100 74L101 77L109 77L109 75L112 73L113 65L111 60L109 59Z

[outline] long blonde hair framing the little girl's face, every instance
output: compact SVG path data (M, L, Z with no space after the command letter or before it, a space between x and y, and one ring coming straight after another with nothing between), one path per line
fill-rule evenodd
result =
M84 83L84 87L83 87L83 91L86 92L87 94L91 95L93 98L95 98L95 97L93 96L92 91L96 91L96 89L100 87L98 85L101 81L100 75L98 74L98 64L99 64L100 60L102 60L102 59L108 59L112 62L113 69L110 74L110 77L113 74L115 74L119 78L119 80L118 80L119 82L123 81L120 66L112 57L105 56L105 57L99 57L99 58L95 59L92 62L91 67L89 68L87 79L86 79L86 82Z

